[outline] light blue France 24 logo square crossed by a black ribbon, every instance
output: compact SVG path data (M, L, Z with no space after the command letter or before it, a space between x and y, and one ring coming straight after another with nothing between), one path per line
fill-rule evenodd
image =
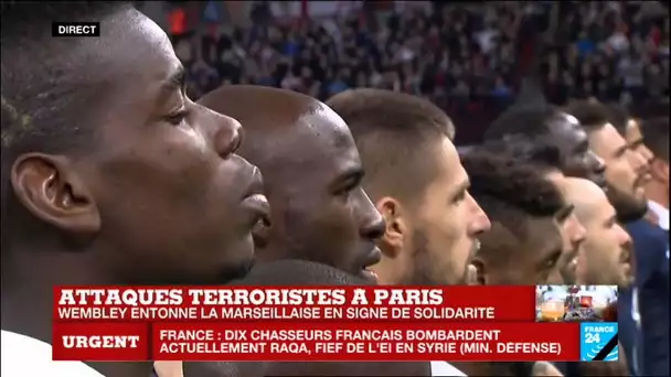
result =
M581 323L581 362L617 362L617 323Z

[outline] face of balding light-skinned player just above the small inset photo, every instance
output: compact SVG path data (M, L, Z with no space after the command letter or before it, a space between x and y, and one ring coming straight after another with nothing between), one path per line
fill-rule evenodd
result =
M578 259L578 281L626 287L631 274L631 238L618 224L615 208L605 196L583 224L587 234Z

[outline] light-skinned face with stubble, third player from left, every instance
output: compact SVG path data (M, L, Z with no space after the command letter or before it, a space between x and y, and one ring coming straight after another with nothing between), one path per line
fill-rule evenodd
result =
M468 175L455 146L445 138L435 149L436 179L413 216L412 282L460 284L477 250L479 234L490 228L487 215L468 193Z

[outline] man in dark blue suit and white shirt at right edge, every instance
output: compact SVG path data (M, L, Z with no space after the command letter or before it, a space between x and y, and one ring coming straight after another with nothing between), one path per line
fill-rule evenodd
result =
M669 375L669 118L642 123L643 142L652 152L652 179L646 185L649 216L628 224L636 239L638 310L641 316L640 369Z

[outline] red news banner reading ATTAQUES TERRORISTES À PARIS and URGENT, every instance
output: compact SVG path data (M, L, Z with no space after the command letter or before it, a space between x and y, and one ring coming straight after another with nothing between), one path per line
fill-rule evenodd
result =
M578 360L535 287L57 287L58 360Z

